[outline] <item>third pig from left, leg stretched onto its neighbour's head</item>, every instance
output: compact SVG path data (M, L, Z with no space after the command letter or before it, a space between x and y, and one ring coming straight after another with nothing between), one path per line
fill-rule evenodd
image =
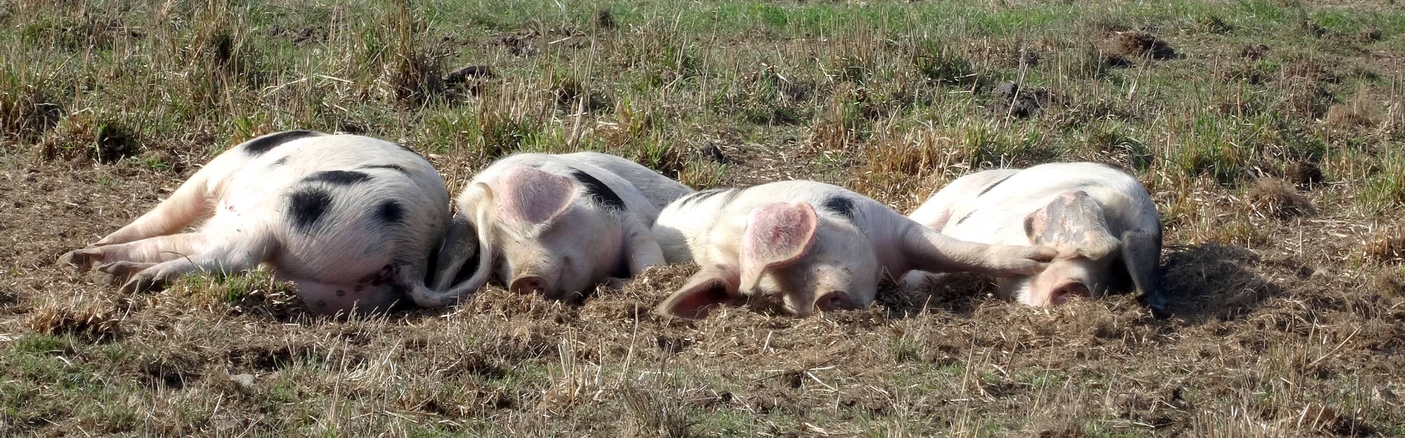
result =
M909 270L1034 275L1054 251L960 241L853 191L815 181L715 188L679 198L653 234L669 263L700 270L655 309L701 317L780 296L787 313L863 309L882 275Z

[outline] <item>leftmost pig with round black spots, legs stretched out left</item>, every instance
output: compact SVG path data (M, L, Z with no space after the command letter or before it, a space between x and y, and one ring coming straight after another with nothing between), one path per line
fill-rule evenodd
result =
M150 212L60 263L129 278L125 292L268 265L313 312L374 312L427 288L448 219L444 180L409 147L285 131L221 153Z

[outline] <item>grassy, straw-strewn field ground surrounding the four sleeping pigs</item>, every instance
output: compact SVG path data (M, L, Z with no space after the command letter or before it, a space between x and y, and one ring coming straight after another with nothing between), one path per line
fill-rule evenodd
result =
M1405 435L1395 0L0 0L0 435ZM1176 316L962 277L667 321L666 267L333 320L266 274L126 296L55 265L292 128L402 142L454 191L592 149L899 211L1096 160L1154 192Z

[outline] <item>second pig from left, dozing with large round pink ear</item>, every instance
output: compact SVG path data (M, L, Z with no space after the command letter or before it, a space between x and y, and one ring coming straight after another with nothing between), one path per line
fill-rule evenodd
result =
M663 263L649 226L693 192L631 160L596 153L517 153L469 181L438 254L434 288L447 306L496 278L518 293L573 299ZM468 267L476 255L476 265ZM466 277L466 279L465 279Z

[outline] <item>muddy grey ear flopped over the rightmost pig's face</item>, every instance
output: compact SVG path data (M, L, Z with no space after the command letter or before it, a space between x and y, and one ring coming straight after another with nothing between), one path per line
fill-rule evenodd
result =
M1059 258L1100 260L1116 251L1118 244L1107 229L1103 208L1080 190L1062 192L1024 216L1024 234L1033 244L1057 248Z

